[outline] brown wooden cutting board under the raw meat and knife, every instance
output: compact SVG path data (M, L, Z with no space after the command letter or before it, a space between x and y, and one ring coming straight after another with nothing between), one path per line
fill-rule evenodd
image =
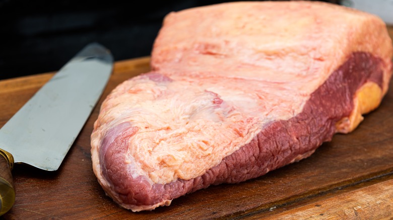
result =
M389 29L391 33L391 28ZM149 57L116 62L92 115L58 171L16 165L16 202L5 219L299 219L393 216L393 89L358 129L309 158L239 184L211 186L170 206L134 213L107 197L93 173L90 134L104 97L149 70ZM0 127L53 73L0 81ZM390 83L393 88L393 82ZM78 106L75 106L78 107Z

